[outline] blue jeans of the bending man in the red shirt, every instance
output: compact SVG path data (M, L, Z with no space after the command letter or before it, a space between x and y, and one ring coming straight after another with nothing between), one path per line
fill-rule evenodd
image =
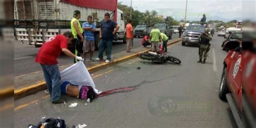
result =
M41 64L44 79L51 95L51 101L54 102L60 98L60 74L57 64L45 65Z

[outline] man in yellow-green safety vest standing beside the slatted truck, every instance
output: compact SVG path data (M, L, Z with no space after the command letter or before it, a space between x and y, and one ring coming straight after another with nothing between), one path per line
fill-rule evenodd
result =
M83 36L83 29L78 21L78 19L81 17L80 11L75 10L73 14L73 18L70 22L71 31L74 36L74 39L72 41L73 46L73 53L76 56L80 56L81 53L83 53L83 42L84 42L84 36ZM74 63L78 62L76 59L74 59Z

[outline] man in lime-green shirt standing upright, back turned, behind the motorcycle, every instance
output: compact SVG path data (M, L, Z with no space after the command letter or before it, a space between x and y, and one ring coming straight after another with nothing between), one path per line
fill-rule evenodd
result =
M156 25L153 26L153 30L150 32L150 40L152 44L152 51L159 52L159 42L161 42L161 32L157 29Z

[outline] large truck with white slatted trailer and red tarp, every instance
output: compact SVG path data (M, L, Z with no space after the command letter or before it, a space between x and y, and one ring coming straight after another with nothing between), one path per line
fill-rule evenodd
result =
M16 40L40 47L51 36L71 31L70 22L74 10L81 12L81 25L86 22L87 16L92 16L96 25L96 50L99 44L100 22L104 20L106 12L120 25L114 41L123 40L126 43L124 14L122 10L117 9L117 0L15 0Z

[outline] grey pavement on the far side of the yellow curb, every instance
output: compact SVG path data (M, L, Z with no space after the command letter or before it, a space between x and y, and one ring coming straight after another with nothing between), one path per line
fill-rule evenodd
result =
M178 34L174 34L172 38L178 38ZM133 48L138 48L141 45L142 38L134 38ZM21 44L18 41L15 42L14 50L14 75L19 76L26 73L40 71L41 66L35 63L35 57L39 48L35 48L33 45ZM118 53L126 50L126 44L122 42L114 42L112 53ZM94 58L97 58L98 51L95 52ZM62 55L58 58L59 66L68 65L73 63L73 59Z

